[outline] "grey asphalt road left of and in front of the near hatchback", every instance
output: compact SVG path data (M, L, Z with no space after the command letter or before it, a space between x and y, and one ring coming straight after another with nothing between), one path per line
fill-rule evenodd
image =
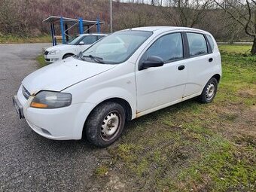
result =
M105 149L44 139L14 111L12 96L48 45L0 44L0 191L96 190L93 172Z

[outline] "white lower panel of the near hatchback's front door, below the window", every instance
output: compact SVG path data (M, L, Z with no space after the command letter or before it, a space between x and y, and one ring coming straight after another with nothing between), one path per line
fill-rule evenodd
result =
M138 112L156 108L168 102L175 102L182 98L186 86L187 69L177 73L173 72L183 63L184 61L170 62L161 69L150 68L136 72ZM151 78L150 81L148 77ZM155 81L156 79L157 81Z

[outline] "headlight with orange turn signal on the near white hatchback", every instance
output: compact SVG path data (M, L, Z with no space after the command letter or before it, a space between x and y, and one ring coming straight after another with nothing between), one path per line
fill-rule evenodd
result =
M72 95L43 90L35 95L30 107L32 108L63 108L71 105Z

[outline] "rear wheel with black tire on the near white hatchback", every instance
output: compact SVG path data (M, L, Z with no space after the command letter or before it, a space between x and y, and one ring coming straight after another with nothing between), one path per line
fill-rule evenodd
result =
M198 100L201 103L209 103L215 99L218 89L218 81L215 78L211 78L206 86L203 88L203 92L198 96Z

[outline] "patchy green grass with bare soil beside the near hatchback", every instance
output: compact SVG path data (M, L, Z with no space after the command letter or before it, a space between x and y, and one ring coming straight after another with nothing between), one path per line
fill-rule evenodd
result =
M220 46L223 78L211 104L191 99L127 124L108 148L127 190L254 191L256 56L249 48Z

